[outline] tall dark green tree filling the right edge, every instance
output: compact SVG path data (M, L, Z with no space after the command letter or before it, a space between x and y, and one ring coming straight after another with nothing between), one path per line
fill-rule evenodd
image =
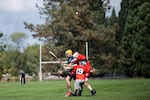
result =
M130 76L141 76L145 75L144 73L150 76L150 73L144 72L145 68L149 70L147 66L150 65L150 62L146 60L150 57L148 56L150 52L149 7L148 0L129 0L128 16L121 45L126 52L126 59L130 61L126 65L129 66L127 72Z

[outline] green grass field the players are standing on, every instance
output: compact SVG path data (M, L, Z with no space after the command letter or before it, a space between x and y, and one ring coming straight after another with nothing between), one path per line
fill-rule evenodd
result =
M84 88L80 97L64 97L64 80L0 82L0 100L150 100L150 79L90 80L95 96ZM73 82L72 82L73 83ZM73 84L72 84L73 85Z

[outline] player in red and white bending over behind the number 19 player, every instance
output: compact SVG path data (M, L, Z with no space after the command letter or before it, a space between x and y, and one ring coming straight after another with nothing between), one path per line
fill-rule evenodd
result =
M80 54L79 52L75 52L73 55L72 61L69 63L68 66L72 66L74 63L77 63L78 65L80 63L85 63L86 69L89 70L89 72L86 73L85 83L84 85L88 90L91 91L92 95L96 94L96 90L94 90L91 85L88 83L88 78L90 77L90 73L94 71L94 69L91 67L90 62L86 59L86 56L84 54Z

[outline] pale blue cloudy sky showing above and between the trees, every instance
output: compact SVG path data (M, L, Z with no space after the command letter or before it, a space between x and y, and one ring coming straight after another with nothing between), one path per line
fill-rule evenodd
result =
M116 12L120 10L121 0L110 0L110 5L115 7ZM24 28L23 22L42 24L44 20L40 18L36 3L42 6L43 0L0 0L0 32L9 36L14 32L24 32L28 34L27 44L35 44L38 41L33 39L28 29ZM107 13L106 16L109 16Z

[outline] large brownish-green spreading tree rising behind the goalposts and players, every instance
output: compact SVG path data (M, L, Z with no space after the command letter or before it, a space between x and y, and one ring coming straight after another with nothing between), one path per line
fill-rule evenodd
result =
M37 7L40 14L46 16L46 23L24 24L27 29L36 32L34 37L44 37L49 44L55 45L49 49L56 48L61 54L67 48L85 53L86 41L96 41L98 44L107 38L104 38L106 35L103 35L103 29L108 2L109 0L44 0L44 7Z

